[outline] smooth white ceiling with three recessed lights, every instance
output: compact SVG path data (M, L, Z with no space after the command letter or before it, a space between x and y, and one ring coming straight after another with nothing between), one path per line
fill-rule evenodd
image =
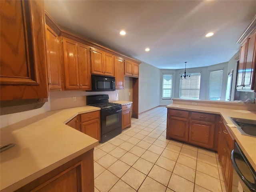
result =
M227 62L256 14L256 0L46 0L60 26L160 69ZM120 36L120 30L126 35ZM206 38L208 32L214 36ZM150 51L145 52L149 47Z

